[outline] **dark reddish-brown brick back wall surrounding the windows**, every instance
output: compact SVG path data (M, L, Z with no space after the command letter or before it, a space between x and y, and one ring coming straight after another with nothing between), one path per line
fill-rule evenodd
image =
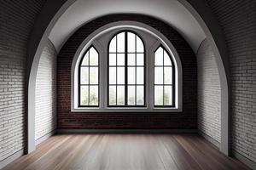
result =
M179 113L78 113L71 112L71 65L84 38L92 31L118 20L139 21L163 33L177 49L183 65L183 112ZM177 31L160 20L143 15L108 15L82 26L70 37L57 61L57 127L63 128L197 128L196 58Z

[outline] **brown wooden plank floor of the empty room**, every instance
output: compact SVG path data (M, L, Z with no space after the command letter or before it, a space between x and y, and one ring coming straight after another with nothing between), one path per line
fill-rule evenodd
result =
M242 170L241 162L221 154L195 134L56 135L7 169L88 170Z

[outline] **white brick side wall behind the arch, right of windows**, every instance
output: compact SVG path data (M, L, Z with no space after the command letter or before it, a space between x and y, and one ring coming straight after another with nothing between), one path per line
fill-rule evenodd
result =
M211 46L205 39L197 56L198 128L220 143L220 82L218 66Z

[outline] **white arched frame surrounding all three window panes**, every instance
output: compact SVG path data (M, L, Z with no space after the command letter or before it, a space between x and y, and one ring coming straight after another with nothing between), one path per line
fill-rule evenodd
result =
M143 38L146 59L146 97L145 107L108 107L108 42L119 31L131 30ZM149 36L147 36L150 34ZM100 94L99 107L79 107L78 105L78 69L79 61L84 52L93 45L99 53L100 66ZM154 51L160 47L166 48L175 66L175 106L154 107ZM150 76L149 76L150 75ZM89 37L84 39L73 57L71 71L71 111L73 112L181 112L182 108L182 65L176 49L172 43L153 27L135 21L118 21L102 26Z

